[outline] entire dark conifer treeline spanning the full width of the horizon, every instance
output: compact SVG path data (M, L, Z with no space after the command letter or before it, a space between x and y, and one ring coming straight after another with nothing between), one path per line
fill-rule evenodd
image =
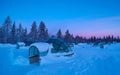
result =
M18 27L17 27L18 26ZM48 38L60 38L66 41L69 44L75 43L113 43L120 42L119 37L114 36L104 36L104 37L82 37L82 36L73 36L69 30L66 30L65 35L62 34L61 29L58 30L56 35L48 34L48 29L45 26L43 21L40 22L37 27L36 22L34 21L31 25L31 29L28 32L27 28L24 28L22 24L16 26L16 23L11 21L8 16L4 23L0 25L0 43L11 43L15 44L17 42L24 42L26 45L30 45L34 42L44 42Z

